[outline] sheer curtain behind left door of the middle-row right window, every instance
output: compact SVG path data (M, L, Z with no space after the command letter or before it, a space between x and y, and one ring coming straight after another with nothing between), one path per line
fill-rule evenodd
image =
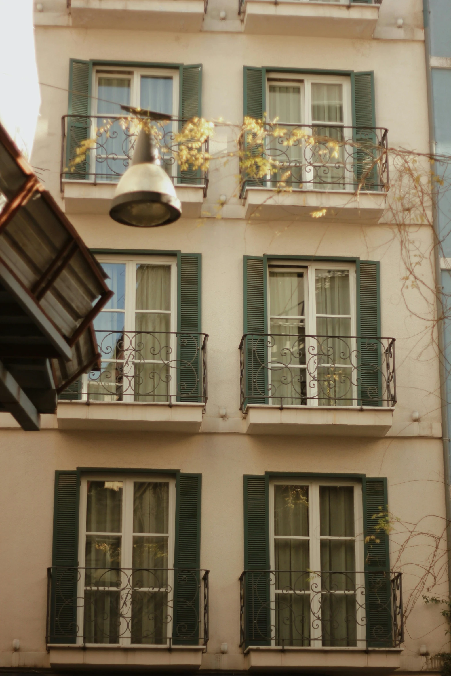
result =
M295 368L306 363L304 272L270 271L269 296L271 403L305 404L305 369Z

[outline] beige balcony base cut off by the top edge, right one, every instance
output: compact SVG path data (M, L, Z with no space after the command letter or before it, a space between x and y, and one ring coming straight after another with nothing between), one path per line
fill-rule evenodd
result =
M370 39L379 2L316 0L239 0L238 14L246 33Z

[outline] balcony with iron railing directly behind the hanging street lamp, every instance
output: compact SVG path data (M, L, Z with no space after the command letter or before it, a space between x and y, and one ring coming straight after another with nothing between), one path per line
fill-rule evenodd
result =
M158 122L152 124L158 128L162 166L175 186L183 216L198 218L207 194L208 172L181 172L177 166L178 145L174 141L174 131ZM94 147L88 151L84 162L72 164L77 159L80 141L85 139L93 139ZM136 139L137 130L121 116L112 116L108 120L97 116L62 117L60 189L64 194L66 214L110 212L116 185L131 162ZM199 152L208 152L208 140Z

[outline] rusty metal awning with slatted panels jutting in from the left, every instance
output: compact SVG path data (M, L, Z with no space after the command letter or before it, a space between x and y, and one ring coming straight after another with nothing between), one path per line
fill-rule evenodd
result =
M100 368L107 275L0 124L0 411L39 429L57 394Z

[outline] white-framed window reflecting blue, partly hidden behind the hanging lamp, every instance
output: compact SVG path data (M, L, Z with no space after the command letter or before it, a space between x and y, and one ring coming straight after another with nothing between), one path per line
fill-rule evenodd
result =
M91 116L95 120L92 136L96 138L97 146L95 158L91 162L94 160L97 180L118 180L128 168L133 155L136 135L130 128L124 129L120 122L120 118L128 115L121 110L121 104L178 117L179 71L125 66L95 67ZM109 130L97 132L108 120L112 121ZM176 124L168 122L159 128L163 135L162 146L167 147L166 151L162 151L162 163L170 176L176 176L176 162L170 153Z

